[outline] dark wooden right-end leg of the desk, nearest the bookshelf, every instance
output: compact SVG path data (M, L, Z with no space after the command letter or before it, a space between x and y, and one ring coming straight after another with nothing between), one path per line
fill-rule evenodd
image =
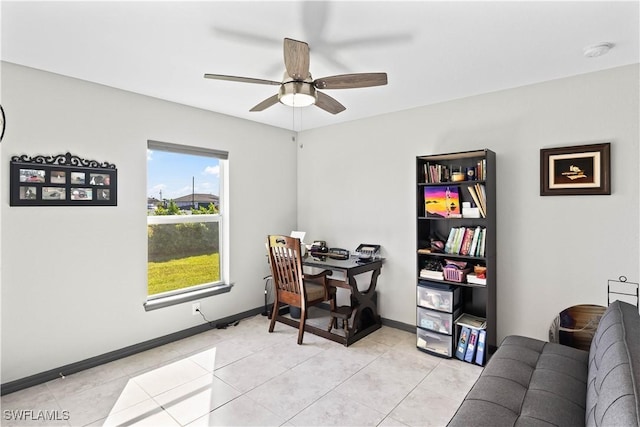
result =
M351 342L357 341L370 332L379 329L382 325L382 321L378 315L376 298L376 286L378 284L379 275L379 268L373 270L369 288L364 292L360 292L358 289L358 283L356 282L355 277L349 277L349 286L351 287L351 305L354 307L355 316L353 318L353 326L351 327L347 337L347 345L351 344Z

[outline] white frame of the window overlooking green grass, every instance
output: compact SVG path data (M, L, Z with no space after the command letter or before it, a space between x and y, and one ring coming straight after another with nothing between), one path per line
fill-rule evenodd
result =
M213 150L208 148L193 147L187 145L173 144L160 141L147 141L147 149L152 151L165 151L177 154L195 155L202 157L214 157L218 159L220 166L219 175L219 206L217 214L198 214L198 215L148 215L146 226L154 224L186 224L197 222L209 222L218 224L218 247L219 247L219 263L220 263L220 279L216 282L203 283L200 285L190 286L188 288L177 289L174 291L162 292L160 294L149 295L147 290L147 298L143 304L146 311L156 310L158 308L169 307L188 301L227 293L233 285L229 282L228 276L228 217L225 214L227 200L226 189L228 188L227 162L229 154L226 151ZM146 183L146 180L145 180ZM146 193L146 191L145 191ZM146 203L145 203L146 204ZM146 212L146 210L145 210ZM148 253L146 257L148 265ZM148 286L148 281L145 287Z

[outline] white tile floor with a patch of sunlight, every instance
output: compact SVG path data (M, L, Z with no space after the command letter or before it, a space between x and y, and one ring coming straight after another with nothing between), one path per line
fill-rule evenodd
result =
M349 347L267 329L244 319L3 396L2 425L444 426L482 370L389 327Z

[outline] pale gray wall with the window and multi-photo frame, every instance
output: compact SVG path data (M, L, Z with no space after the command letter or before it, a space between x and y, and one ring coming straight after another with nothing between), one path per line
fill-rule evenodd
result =
M3 383L202 323L190 303L142 306L149 139L229 151L235 287L202 311L264 304L266 236L296 224L290 132L8 63L2 88ZM117 207L9 206L11 156L67 151L117 166Z

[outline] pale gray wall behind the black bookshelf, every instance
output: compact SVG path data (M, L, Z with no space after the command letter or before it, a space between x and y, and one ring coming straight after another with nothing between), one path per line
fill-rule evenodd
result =
M547 339L564 308L606 305L607 280L638 282L639 95L634 65L302 132L298 226L330 246L380 243L381 315L414 324L415 157L489 148L498 340ZM541 148L607 141L611 196L539 195Z

